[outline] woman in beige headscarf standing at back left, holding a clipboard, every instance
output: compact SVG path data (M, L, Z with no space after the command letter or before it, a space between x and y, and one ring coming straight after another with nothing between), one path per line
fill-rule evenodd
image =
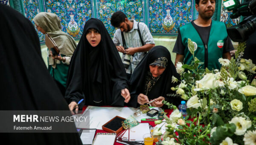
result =
M61 31L61 20L56 14L41 12L33 20L38 31L43 34L47 33L60 50L59 55L52 55L52 52L48 51L48 70L52 77L63 86L59 85L61 92L64 93L68 67L76 49L76 41L70 35Z

